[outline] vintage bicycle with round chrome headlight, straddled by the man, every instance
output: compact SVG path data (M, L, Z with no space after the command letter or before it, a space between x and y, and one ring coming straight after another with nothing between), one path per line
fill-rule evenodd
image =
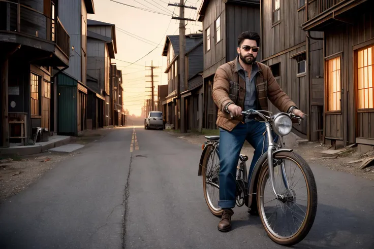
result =
M245 204L249 210L257 211L266 233L274 242L288 246L294 245L308 234L317 212L317 187L313 172L301 156L294 153L292 149L284 148L283 137L291 132L294 121L300 124L301 118L288 113L272 115L268 111L247 110L241 113L260 117L261 120L258 118L255 120L265 123L266 132L263 134L262 156L257 161L251 175L247 175L246 161L248 156L242 154L239 156L236 170L236 205L242 206ZM267 113L267 115L264 113ZM272 131L279 137L277 143L274 143ZM266 133L268 134L269 146L267 153L264 153ZM213 199L214 193L208 193L208 187L212 187L213 190L218 189L217 192L219 193L220 136L206 136L205 138L207 140L202 146L203 152L200 158L198 175L203 176L204 198L209 210L213 215L221 217L223 210L218 206L219 197ZM212 163L212 166L209 167L209 162L214 162L214 159L218 160L218 164ZM296 165L294 170L291 169L291 166L289 168L287 165L285 166L285 162L288 161ZM289 170L287 171L287 169ZM301 174L296 184L292 184L296 169ZM275 176L280 176L278 182L275 181ZM301 181L301 179L304 181ZM305 186L299 187L298 183L300 181L305 182ZM270 192L270 200L265 201L267 187ZM297 191L304 189L306 190L305 196L297 193ZM297 197L300 196L303 199L299 199L299 201L305 201L305 205L297 201ZM272 210L274 207L268 208L265 206L271 202L276 202L275 210ZM287 226L289 224L277 219L278 216L286 217L287 215L292 216L291 226ZM273 216L274 218L271 219ZM299 224L299 226L297 227L296 224ZM287 231L280 231L283 228Z

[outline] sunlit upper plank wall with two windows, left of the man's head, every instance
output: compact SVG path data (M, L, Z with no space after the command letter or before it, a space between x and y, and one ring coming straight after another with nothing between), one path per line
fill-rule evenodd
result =
M216 44L215 20L221 16L222 39ZM206 29L210 27L210 50L206 51ZM226 13L222 0L211 0L206 9L203 21L204 33L204 78L215 73L215 70L226 62Z

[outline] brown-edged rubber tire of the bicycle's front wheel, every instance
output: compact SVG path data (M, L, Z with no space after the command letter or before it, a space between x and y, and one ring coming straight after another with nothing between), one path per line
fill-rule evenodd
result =
M298 229L295 234L293 234L289 238L279 238L276 237L274 234L275 232L269 231L269 228L266 226L265 222L265 212L263 212L264 208L261 207L263 201L261 201L261 196L263 195L263 188L262 184L264 182L264 179L267 175L268 172L268 164L267 160L264 162L261 168L259 180L258 180L258 185L257 185L257 204L258 204L258 210L259 210L259 216L262 222L262 225L268 234L268 236L276 243L281 244L281 245L286 245L286 246L292 246L294 244L299 243L301 240L305 238L305 236L309 233L311 227L313 226L314 220L316 218L316 213L317 213L317 186L316 186L316 181L314 179L313 172L311 171L309 165L305 162L305 160L297 155L294 152L280 152L278 154L274 155L274 159L288 159L291 161L294 161L296 165L299 167L301 170L304 180L306 183L306 189L308 193L308 206L306 209L306 216L305 219ZM266 184L266 183L265 183Z

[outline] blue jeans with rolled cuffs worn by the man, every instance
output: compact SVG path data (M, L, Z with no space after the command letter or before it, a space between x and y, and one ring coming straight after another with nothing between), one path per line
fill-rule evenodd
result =
M265 123L252 120L248 123L239 123L232 131L220 128L220 201L221 208L235 207L236 192L236 167L238 165L239 154L243 147L244 140L255 149L252 159L249 176L257 161L262 156L263 133L266 131ZM272 132L273 138L274 132ZM274 139L275 140L275 139ZM268 149L267 133L265 136L264 152ZM246 176L244 176L246 177Z

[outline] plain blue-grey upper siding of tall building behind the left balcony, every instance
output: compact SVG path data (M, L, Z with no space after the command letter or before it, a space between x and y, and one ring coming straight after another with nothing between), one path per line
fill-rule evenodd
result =
M81 1L80 0L60 0L58 1L58 17L64 24L70 35L69 68L64 73L81 81Z

